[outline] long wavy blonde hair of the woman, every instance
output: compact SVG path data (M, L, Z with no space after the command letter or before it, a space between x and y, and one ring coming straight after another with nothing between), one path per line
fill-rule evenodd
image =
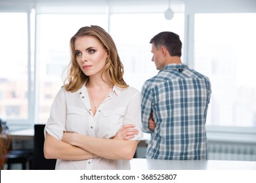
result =
M104 29L102 29L102 27L97 25L81 27L70 39L71 60L66 68L68 69L68 76L64 80L64 88L69 92L76 92L89 79L89 76L85 75L83 71L81 71L77 63L74 46L75 40L78 37L88 35L98 39L98 41L100 41L102 46L106 49L106 52L108 52L108 59L102 73L106 73L106 76L112 82L112 84L115 84L120 88L127 88L128 85L123 80L123 64L118 56L116 44L112 37Z

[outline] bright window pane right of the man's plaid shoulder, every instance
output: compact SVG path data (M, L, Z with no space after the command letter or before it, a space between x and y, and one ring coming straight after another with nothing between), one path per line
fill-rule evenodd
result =
M195 69L209 76L208 125L256 126L256 14L196 14Z

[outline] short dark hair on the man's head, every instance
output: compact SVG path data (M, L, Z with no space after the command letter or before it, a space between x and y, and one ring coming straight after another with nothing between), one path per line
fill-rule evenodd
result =
M165 46L171 56L181 57L182 42L179 35L173 32L164 31L158 33L150 40L150 43L154 43L157 49L160 46Z

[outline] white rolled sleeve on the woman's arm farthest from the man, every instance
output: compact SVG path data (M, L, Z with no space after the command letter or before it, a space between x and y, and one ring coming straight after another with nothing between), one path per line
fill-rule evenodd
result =
M64 88L61 88L57 93L53 105L51 107L51 112L47 124L45 125L46 132L61 140L63 137L63 132L66 131L66 97L64 93Z

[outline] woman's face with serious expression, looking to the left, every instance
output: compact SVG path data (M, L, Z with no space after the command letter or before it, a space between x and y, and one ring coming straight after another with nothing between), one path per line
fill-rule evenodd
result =
M75 57L80 69L87 76L101 75L106 65L108 52L93 36L83 36L75 39Z

